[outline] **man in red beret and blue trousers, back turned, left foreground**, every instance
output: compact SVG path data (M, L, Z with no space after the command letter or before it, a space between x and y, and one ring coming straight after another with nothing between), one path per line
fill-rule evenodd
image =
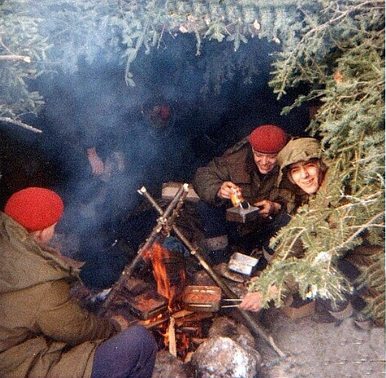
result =
M45 188L15 192L0 213L1 377L150 378L157 346L146 328L70 297L82 264L47 246L62 213Z

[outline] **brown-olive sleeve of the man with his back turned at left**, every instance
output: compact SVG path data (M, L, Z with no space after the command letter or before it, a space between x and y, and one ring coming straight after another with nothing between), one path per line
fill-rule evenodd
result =
M77 345L85 341L109 338L119 330L109 319L97 317L81 308L70 297L70 285L65 280L43 285L45 288L36 323L47 337Z

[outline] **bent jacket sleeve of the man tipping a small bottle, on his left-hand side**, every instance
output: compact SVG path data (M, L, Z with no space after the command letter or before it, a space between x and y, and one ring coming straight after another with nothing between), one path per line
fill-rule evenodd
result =
M224 181L230 181L226 161L222 158L215 158L206 167L197 169L192 186L203 201L220 205L224 203L224 200L217 197L217 192Z

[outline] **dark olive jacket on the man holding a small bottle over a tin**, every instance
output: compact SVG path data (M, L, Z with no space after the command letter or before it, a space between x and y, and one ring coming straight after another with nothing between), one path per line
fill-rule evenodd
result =
M261 179L253 160L252 148L247 139L242 139L227 149L224 155L214 158L206 167L197 169L192 185L203 201L213 205L226 202L217 196L219 188L225 181L231 181L239 186L244 199L250 204L270 199L285 205L293 195L285 188L277 188L278 175L277 165Z

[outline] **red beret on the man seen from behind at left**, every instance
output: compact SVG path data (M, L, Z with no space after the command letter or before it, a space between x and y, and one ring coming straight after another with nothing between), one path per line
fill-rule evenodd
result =
M63 201L52 190L26 188L10 196L4 213L28 231L45 229L63 214Z

